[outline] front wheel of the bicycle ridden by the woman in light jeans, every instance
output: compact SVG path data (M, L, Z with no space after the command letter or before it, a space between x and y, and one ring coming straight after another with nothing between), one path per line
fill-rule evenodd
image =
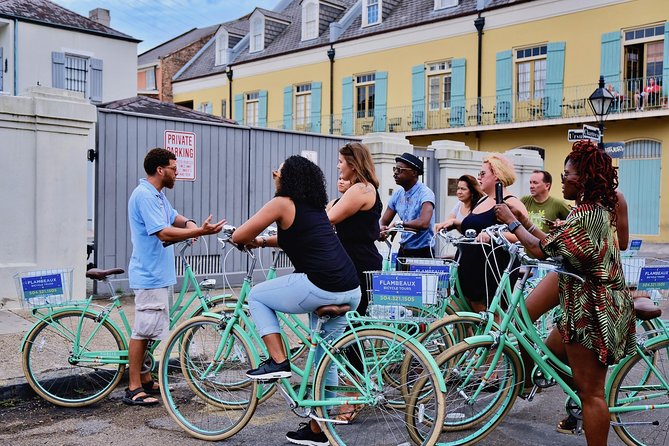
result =
M160 391L170 416L193 437L218 441L239 432L258 403L258 386L245 372L256 366L236 328L224 343L221 321L199 316L170 336L160 361ZM224 384L221 384L224 383ZM239 385L228 386L230 383Z

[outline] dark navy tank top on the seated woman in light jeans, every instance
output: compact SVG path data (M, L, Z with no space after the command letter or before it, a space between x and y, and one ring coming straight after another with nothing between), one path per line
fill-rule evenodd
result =
M318 288L349 291L360 285L351 258L346 254L323 208L293 201L295 220L278 229L279 247L293 263L296 273L307 275Z

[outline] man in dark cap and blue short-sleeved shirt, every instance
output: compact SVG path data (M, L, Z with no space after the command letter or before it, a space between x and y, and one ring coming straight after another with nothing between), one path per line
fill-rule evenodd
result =
M395 158L393 178L400 188L390 197L388 208L381 217L381 233L402 226L416 234L402 234L397 257L432 257L430 242L434 236L434 192L418 181L423 174L423 161L411 153ZM400 220L390 222L398 215ZM390 225L390 226L389 226Z

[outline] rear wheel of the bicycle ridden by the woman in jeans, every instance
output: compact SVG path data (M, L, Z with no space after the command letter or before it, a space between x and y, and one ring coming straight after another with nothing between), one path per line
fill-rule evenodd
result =
M355 349L360 355L364 370L356 370L348 361L347 349ZM404 334L383 329L361 329L348 333L330 349L332 356L325 355L314 378L314 398L332 401L332 406L317 408L319 416L333 419L338 407L346 402L354 404L358 399L360 409L352 423L326 422L324 431L332 444L347 446L383 444L433 444L439 435L443 420L444 396L438 389L437 371L434 370L420 347L407 341ZM420 404L402 409L391 401L402 399L402 390L384 381L385 369L397 366L397 357L409 355L415 365L410 371L412 378L408 386L424 378L424 388L429 395ZM338 383L327 382L327 371L337 368ZM335 402L336 401L336 402ZM424 423L425 418L436 420ZM410 436L407 426L418 426L420 437Z

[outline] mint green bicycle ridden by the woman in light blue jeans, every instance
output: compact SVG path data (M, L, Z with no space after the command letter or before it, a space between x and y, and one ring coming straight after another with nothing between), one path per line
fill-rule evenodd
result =
M223 235L229 237L231 231L224 229ZM251 255L250 250L245 251ZM253 260L250 263L242 289L250 288ZM170 416L186 432L211 441L233 436L274 386L296 415L320 421L332 444L369 445L381 438L393 444L433 443L443 424L445 386L432 357L404 331L362 318L348 306L321 307L316 311L318 323L307 337L309 350L303 367L291 363L297 382L252 381L245 372L268 353L250 333L245 298L246 293L240 293L232 312L204 313L184 322L167 341L160 362L161 392ZM280 319L284 317L279 314ZM346 317L349 324L338 339L321 335L322 324L331 317ZM292 330L290 324L283 327ZM324 355L315 364L319 346ZM349 350L357 352L363 370L349 362ZM413 365L411 378L404 389L398 389L385 376L406 356ZM337 382L328 381L331 368L337 370ZM406 400L419 380L424 380L425 394L410 406ZM345 404L364 406L354 423L336 419L338 407Z

